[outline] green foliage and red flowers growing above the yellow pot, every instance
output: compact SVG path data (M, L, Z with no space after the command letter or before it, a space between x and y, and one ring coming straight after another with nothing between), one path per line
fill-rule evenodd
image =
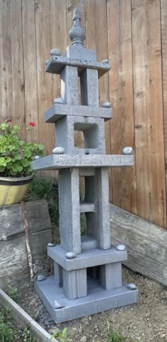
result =
M11 124L6 119L0 125L0 176L26 177L32 175L31 162L35 155L43 155L44 146L33 142L35 123L29 122L27 130L31 134L31 142L22 141L18 136L20 126Z

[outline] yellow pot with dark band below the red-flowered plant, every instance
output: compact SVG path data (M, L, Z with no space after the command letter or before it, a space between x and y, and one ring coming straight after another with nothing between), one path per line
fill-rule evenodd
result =
M33 177L0 177L0 206L21 203Z

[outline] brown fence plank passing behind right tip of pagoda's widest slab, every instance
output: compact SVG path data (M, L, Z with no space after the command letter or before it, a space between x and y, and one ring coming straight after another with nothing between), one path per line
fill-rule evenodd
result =
M134 148L131 1L108 1L108 49L110 71L111 152ZM133 167L113 168L113 203L137 213L136 176Z

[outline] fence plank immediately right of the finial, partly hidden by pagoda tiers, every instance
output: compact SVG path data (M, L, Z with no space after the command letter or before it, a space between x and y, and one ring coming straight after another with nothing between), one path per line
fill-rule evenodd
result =
M100 13L100 15L99 15ZM98 20L93 20L98 18ZM97 60L108 59L108 27L106 0L86 0L86 47L95 49ZM112 72L112 71L110 71ZM99 80L99 102L109 101L109 75L108 73ZM105 147L110 154L110 121L105 123ZM112 201L111 170L108 170L110 201Z

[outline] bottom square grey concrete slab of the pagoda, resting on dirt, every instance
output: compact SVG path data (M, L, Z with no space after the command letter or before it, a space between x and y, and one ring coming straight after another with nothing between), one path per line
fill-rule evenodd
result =
M88 278L88 295L74 300L67 299L63 288L54 283L54 276L49 276L45 281L36 281L35 290L55 322L67 322L138 301L138 290L129 290L127 284L121 288L105 290L98 281L91 278ZM54 301L62 307L55 309Z

